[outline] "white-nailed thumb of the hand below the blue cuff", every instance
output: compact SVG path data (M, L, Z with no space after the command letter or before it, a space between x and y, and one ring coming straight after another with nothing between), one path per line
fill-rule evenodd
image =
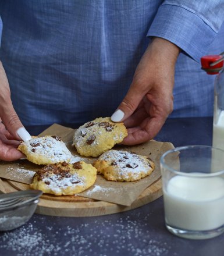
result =
M113 122L122 122L133 114L145 95L140 87L131 86L125 98L111 116Z

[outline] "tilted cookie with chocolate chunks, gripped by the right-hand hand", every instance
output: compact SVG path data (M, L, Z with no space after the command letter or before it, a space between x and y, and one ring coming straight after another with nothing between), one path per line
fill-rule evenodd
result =
M98 157L127 136L123 123L114 123L111 118L97 118L85 123L75 131L73 144L80 155Z

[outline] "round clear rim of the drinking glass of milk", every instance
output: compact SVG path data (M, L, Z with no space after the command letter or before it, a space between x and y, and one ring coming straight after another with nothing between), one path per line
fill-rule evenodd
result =
M183 151L183 150L189 150L189 149L193 149L193 148L204 148L204 149L207 148L207 149L210 149L210 150L214 149L214 150L222 151L223 155L224 155L224 150L221 150L221 148L216 148L216 147L207 146L207 145L186 145L186 146L172 148L172 150L168 150L168 151L164 152L162 154L159 162L162 166L164 166L170 172L175 173L176 175L202 178L202 177L215 177L215 176L219 176L219 175L224 174L224 166L223 166L223 169L219 170L218 172L214 172L214 173L194 173L193 174L193 173L187 173L187 172L180 172L179 170L173 169L169 165L167 165L164 161L165 157L170 153Z

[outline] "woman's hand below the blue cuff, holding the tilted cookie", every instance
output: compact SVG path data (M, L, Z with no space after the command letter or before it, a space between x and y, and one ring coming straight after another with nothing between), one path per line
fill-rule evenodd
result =
M124 122L134 145L154 138L173 111L175 63L180 49L154 38L137 66L130 89L111 119Z

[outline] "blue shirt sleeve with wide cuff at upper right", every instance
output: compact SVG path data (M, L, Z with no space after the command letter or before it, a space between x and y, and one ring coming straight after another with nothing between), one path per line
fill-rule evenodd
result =
M168 0L159 7L147 36L169 40L199 62L223 21L223 0Z

